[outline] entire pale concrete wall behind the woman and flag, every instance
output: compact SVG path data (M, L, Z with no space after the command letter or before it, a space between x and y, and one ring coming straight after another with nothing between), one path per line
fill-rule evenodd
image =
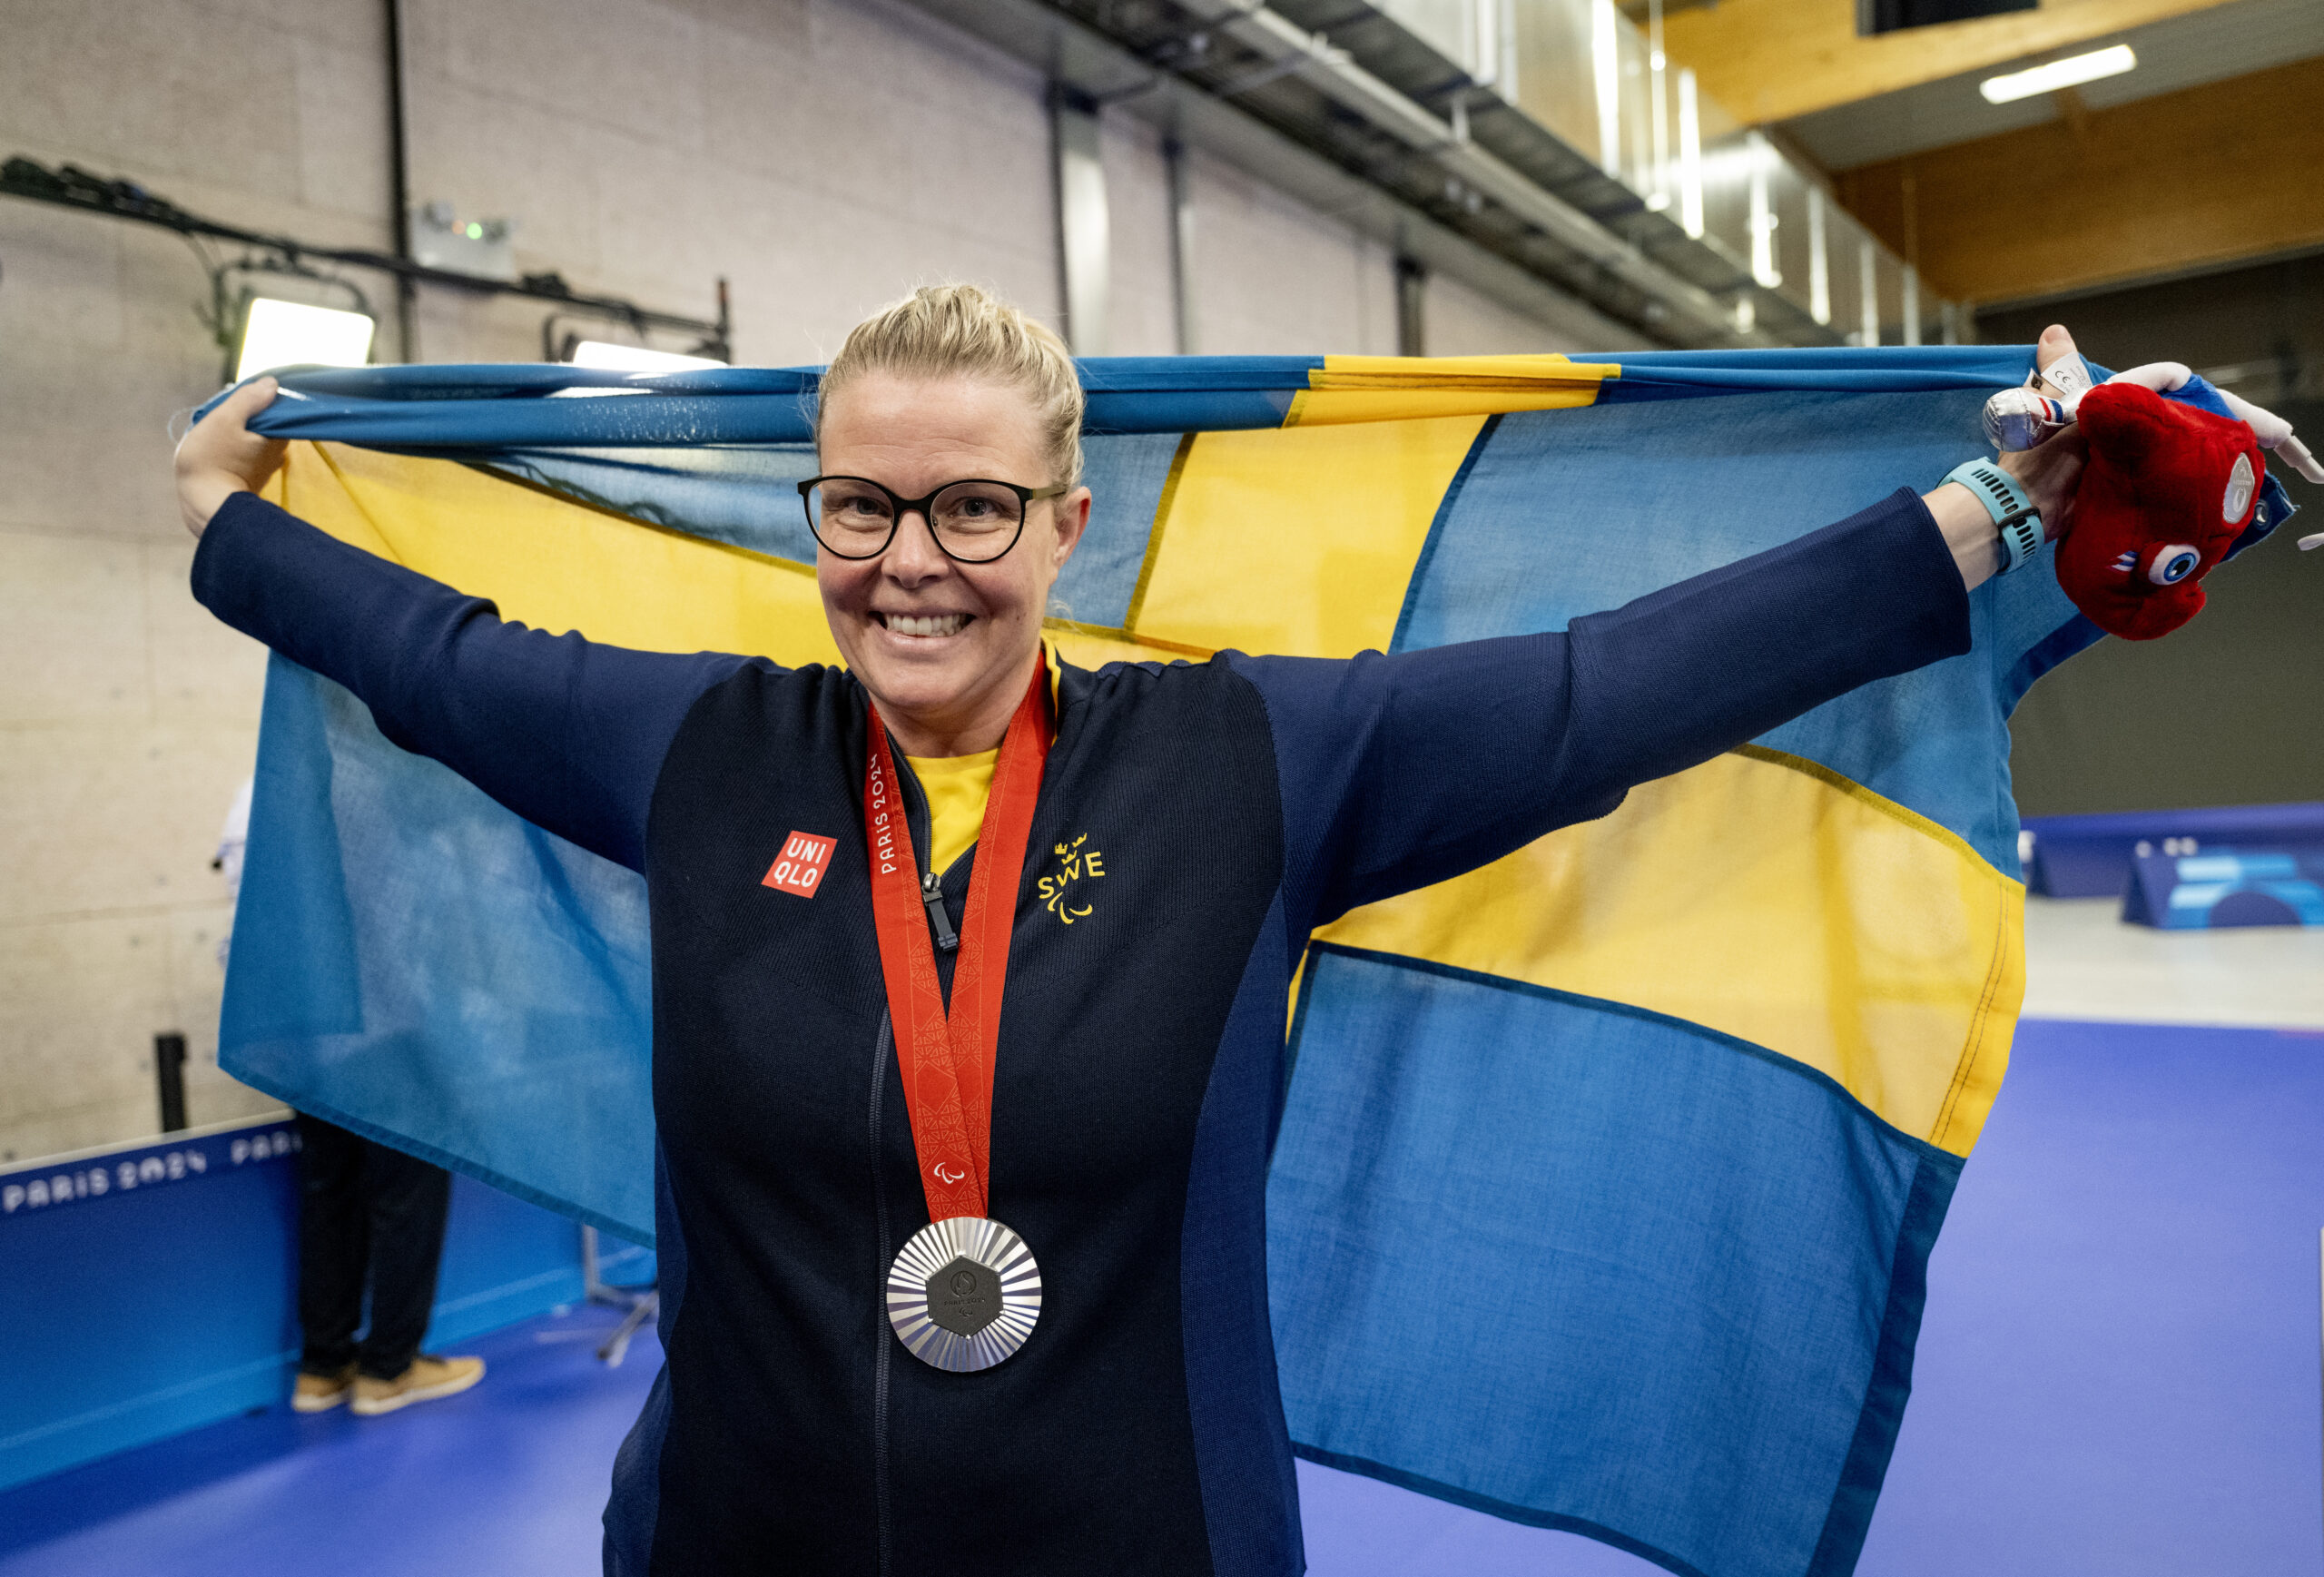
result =
M0 156L228 223L386 246L383 0L0 0ZM514 216L525 269L825 358L964 276L1055 318L1043 84L881 0L407 0L416 202ZM1109 114L1113 348L1176 351L1155 132ZM1390 255L1215 160L1190 170L1195 346L1392 353ZM232 249L225 249L228 255ZM386 316L388 281L358 279ZM0 1161L267 1101L216 1071L209 871L265 655L186 595L172 420L218 386L207 276L158 230L0 200ZM539 304L423 290L423 360L532 360ZM1580 348L1439 281L1441 351ZM674 346L676 348L676 346ZM393 355L393 341L381 351Z

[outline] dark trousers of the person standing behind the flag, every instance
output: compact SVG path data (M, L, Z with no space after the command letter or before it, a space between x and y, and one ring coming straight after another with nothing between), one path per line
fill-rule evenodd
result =
M418 1356L435 1308L451 1173L300 1112L297 1322L300 1368L335 1375L358 1363L395 1380ZM372 1284L372 1328L363 1284Z

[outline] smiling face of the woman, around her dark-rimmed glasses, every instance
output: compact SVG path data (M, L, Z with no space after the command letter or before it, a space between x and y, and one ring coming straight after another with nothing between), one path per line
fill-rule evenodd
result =
M818 469L867 476L916 499L969 476L1046 488L1034 404L981 379L867 372L823 409ZM1041 499L990 564L944 555L920 513L871 560L816 550L816 585L839 655L906 755L990 750L1025 697L1041 613L1090 523L1090 490Z

